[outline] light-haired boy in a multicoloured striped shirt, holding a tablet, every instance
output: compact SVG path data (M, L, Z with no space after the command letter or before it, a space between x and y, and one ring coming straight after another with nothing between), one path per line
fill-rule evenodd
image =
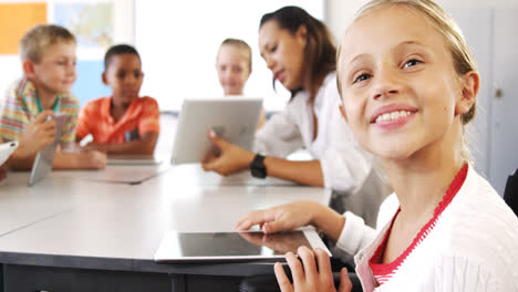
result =
M20 42L23 77L0 101L0 137L19 140L8 160L15 169L30 169L35 155L54 140L54 115L68 117L54 156L54 168L103 168L106 155L73 152L79 101L70 93L76 79L75 38L58 25L37 25Z

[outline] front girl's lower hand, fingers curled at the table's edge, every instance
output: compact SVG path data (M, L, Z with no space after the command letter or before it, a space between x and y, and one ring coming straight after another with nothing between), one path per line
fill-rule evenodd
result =
M293 284L286 275L282 264L277 262L274 265L277 282L282 292L336 291L331 271L331 262L325 251L315 249L313 255L310 249L300 247L298 254L300 260L292 252L286 254L286 260L293 277ZM350 292L351 290L352 283L348 275L348 269L343 268L340 272L340 288L338 291Z

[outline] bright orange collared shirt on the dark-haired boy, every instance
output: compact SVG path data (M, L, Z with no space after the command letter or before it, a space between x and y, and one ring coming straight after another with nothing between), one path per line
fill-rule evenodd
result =
M111 114L113 97L89 102L81 111L76 134L92 134L99 144L120 144L141 138L146 133L159 133L158 103L148 96L132 101L124 115L115 121Z

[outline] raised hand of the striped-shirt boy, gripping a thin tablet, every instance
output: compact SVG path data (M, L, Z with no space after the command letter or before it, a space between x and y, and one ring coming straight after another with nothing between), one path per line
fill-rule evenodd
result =
M43 111L25 126L20 140L20 156L35 155L54 140L55 122L54 119L46 121L49 116L53 116L52 111Z

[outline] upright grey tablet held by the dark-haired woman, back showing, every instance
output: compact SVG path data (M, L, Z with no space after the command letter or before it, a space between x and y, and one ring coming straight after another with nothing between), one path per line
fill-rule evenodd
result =
M262 98L245 96L185 100L170 163L204 161L215 150L208 137L210 129L230 143L251 149L261 108Z

